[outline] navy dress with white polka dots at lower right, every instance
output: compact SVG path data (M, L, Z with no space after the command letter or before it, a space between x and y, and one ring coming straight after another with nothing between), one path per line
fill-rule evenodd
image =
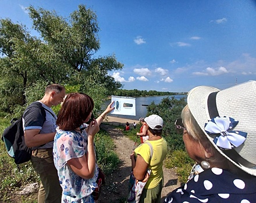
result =
M219 168L199 173L184 186L172 191L164 202L256 202L256 177L234 175Z

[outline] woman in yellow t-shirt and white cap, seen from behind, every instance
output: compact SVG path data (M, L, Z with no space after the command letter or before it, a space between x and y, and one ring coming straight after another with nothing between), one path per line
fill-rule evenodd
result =
M167 143L163 139L163 119L159 115L150 115L144 119L147 123L148 140L153 148L150 157L150 146L141 144L130 155L131 168L137 180L143 180L147 168L151 169L150 178L143 189L140 202L160 202L163 187L163 160L167 154Z

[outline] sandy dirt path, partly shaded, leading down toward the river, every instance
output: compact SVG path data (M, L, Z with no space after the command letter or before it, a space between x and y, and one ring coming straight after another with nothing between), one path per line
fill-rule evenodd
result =
M106 177L106 185L102 187L102 193L98 200L101 203L126 202L128 192L131 170L130 153L133 151L134 142L124 136L122 130L116 128L115 125L116 123L114 122L101 124L101 128L105 129L115 142L115 151L121 160L120 168L113 172L111 176ZM163 168L163 176L165 182L163 184L161 202L163 202L167 194L180 186L177 181L177 175L172 169Z

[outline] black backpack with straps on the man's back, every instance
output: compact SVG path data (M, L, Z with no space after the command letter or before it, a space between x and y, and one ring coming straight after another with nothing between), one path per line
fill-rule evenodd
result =
M42 104L40 102L34 102L30 104L30 106L27 107L27 109L31 107L40 108L42 115L44 115L45 122L45 111L48 110L42 107ZM51 113L50 111L48 112ZM52 116L54 117L54 115ZM5 142L5 147L8 154L10 155L10 157L14 158L15 163L22 164L31 159L32 148L27 147L25 144L22 117L19 119L13 118L10 122L11 125L8 128L6 128L5 131L3 131L2 140L3 142ZM33 149L35 148L33 147Z

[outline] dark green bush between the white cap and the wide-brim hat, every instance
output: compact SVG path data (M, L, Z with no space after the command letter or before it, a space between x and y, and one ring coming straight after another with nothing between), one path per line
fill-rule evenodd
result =
M157 114L163 118L164 126L162 136L168 143L169 150L184 150L182 135L177 134L174 125L177 118L180 118L182 109L186 106L185 98L180 100L175 97L166 97L159 104L152 102L148 107L148 115Z

